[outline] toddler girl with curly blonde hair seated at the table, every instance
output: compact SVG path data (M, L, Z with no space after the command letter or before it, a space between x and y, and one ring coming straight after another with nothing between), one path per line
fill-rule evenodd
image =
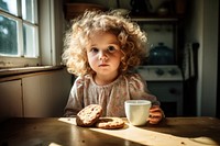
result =
M157 99L145 80L133 72L146 53L146 35L140 26L116 12L87 11L74 20L65 37L63 60L77 76L65 108L75 116L89 104L100 104L102 116L125 116L124 101L150 100L148 122L163 117Z

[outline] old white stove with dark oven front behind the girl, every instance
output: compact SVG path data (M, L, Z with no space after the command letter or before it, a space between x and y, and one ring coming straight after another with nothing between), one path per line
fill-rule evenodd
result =
M183 115L184 79L178 66L139 66L136 71L146 80L152 94L161 101L166 116Z

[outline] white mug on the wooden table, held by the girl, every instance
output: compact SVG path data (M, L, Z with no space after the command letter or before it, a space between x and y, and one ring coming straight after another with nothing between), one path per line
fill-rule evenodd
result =
M151 105L148 100L127 100L124 109L128 121L135 126L146 124Z

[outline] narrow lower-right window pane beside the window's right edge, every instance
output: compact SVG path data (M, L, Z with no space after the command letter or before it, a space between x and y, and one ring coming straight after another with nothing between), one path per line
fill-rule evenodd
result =
M36 44L36 30L28 24L23 24L24 34L24 56L37 57L37 44Z

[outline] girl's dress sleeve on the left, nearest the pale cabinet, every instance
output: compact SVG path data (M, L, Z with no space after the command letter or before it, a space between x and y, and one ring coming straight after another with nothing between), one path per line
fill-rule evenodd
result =
M84 78L78 77L72 87L64 116L75 116L84 105Z

